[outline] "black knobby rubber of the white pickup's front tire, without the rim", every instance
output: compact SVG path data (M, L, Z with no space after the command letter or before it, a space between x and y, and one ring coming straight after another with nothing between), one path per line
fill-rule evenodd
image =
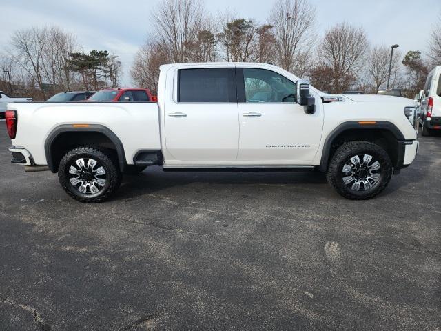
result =
M353 156L358 154L370 154L381 165L380 179L372 188L362 191L351 190L343 182L344 173L342 171L345 163ZM375 143L368 141L349 141L343 143L332 156L326 178L334 190L342 197L351 200L366 200L375 197L387 187L391 180L393 171L392 161L387 152Z

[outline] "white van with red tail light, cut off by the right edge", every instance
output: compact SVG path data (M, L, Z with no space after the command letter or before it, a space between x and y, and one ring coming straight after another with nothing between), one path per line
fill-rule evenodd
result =
M441 66L436 66L427 75L421 115L423 136L429 136L433 130L441 130Z

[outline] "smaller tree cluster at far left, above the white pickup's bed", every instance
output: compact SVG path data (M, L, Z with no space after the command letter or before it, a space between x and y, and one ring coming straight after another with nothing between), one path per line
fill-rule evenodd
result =
M61 28L34 26L14 32L0 70L1 90L41 101L57 92L117 87L121 62L107 50L84 54L76 36Z

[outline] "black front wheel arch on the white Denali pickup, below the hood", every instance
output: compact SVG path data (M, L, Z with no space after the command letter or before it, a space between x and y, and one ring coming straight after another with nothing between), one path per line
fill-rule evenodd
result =
M369 124L349 121L340 124L325 139L318 170L321 172L327 171L331 157L336 149L342 143L355 140L378 144L389 154L394 168L402 168L405 140L402 132L395 124L388 121L375 121L375 123Z

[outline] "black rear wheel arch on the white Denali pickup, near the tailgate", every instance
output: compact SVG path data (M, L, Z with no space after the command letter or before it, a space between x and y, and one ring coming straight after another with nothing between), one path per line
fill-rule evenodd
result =
M125 153L123 143L106 126L90 124L87 127L74 127L72 124L63 124L54 128L44 144L45 157L48 168L58 172L58 166L67 150L81 146L92 145L114 150L118 159L119 168L125 167Z

